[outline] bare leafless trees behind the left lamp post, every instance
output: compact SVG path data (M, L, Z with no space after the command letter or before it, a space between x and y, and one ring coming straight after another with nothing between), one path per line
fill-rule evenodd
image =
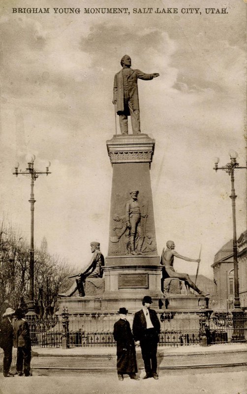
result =
M58 309L58 292L69 285L68 276L75 273L69 263L47 253L47 248L34 251L34 301L41 316L53 314ZM25 304L29 299L30 249L21 230L6 218L0 222L0 316L11 306Z

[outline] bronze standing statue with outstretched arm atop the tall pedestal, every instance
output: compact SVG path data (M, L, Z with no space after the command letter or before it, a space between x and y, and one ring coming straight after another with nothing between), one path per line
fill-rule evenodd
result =
M159 76L157 72L145 74L144 72L131 68L131 59L124 55L121 59L123 67L114 78L113 104L117 104L117 114L121 134L128 134L128 116L131 117L133 134L140 134L140 110L138 99L137 79L151 80Z

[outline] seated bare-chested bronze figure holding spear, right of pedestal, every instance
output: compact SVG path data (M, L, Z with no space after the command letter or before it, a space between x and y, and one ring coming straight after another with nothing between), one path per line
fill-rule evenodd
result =
M195 259L190 259L189 257L181 256L174 249L175 249L175 243L173 241L167 241L166 249L163 248L162 250L161 261L160 261L161 265L163 265L162 283L168 277L178 278L185 282L186 289L187 287L190 287L191 289L195 290L198 294L202 295L202 291L199 290L198 287L195 285L195 283L192 282L188 274L176 272L175 269L173 268L174 256L177 257L178 259L182 259L187 262L200 263L201 260L200 259L195 260ZM163 286L161 287L163 290Z

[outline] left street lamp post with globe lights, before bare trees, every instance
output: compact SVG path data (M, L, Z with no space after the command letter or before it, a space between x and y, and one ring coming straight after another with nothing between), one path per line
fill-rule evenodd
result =
M30 240L30 300L28 304L29 312L34 311L34 194L33 194L33 187L34 187L34 181L38 178L40 174L51 174L49 172L49 166L51 163L46 167L46 171L37 171L33 167L33 162L35 160L35 156L33 155L31 159L28 161L28 167L26 168L25 171L18 171L19 163L15 164L15 172L13 172L13 175L29 175L31 177L31 194L30 194L30 209L31 209L31 240Z

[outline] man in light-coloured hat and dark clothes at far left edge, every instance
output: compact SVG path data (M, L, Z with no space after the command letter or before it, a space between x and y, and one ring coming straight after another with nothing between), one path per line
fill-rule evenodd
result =
M12 317L15 311L12 308L7 308L2 315L0 324L0 347L3 350L3 376L5 378L12 378L14 375L9 372L12 362L13 349L13 325Z

